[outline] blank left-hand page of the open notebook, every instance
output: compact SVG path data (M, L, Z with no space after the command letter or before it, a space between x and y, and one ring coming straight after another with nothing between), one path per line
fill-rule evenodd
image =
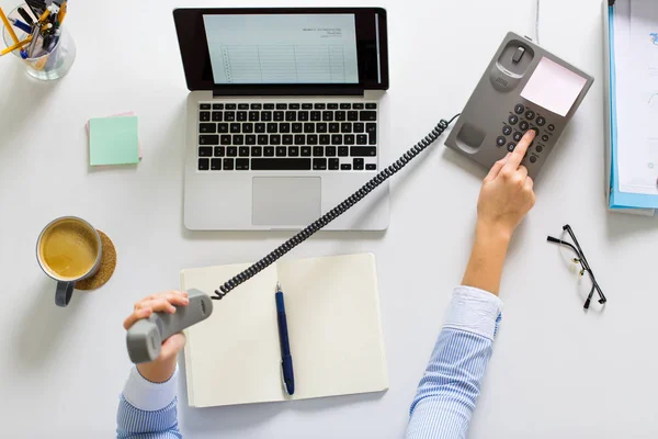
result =
M181 285L211 294L248 267L185 270ZM281 399L275 288L276 268L270 267L214 301L213 314L188 328L185 373L191 406Z

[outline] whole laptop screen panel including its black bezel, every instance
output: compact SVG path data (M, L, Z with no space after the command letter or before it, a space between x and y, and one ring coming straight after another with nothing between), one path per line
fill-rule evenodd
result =
M388 89L381 8L177 9L190 90L228 94Z

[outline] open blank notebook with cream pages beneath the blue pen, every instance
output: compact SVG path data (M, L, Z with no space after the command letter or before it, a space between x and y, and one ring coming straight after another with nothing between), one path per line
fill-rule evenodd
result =
M248 264L181 271L181 286L212 293ZM274 292L285 296L295 394L281 380ZM190 406L305 399L388 389L375 258L279 262L215 302L185 331Z

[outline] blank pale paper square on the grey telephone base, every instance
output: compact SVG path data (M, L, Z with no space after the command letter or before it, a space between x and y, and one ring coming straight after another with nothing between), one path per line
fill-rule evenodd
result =
M564 117L586 83L587 79L544 57L523 88L521 97Z

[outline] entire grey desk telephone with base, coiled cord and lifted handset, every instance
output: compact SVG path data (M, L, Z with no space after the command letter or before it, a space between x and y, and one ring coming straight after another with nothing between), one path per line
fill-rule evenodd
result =
M513 150L527 130L537 130L538 136L523 160L529 175L535 177L592 82L592 77L529 38L509 33L461 115L439 122L393 165L274 251L224 283L212 299L223 299L342 215L432 145L457 117L445 145L488 168ZM161 341L209 317L213 312L211 297L198 290L189 293L188 307L175 314L155 313L128 330L127 347L133 362L155 360L160 353Z

